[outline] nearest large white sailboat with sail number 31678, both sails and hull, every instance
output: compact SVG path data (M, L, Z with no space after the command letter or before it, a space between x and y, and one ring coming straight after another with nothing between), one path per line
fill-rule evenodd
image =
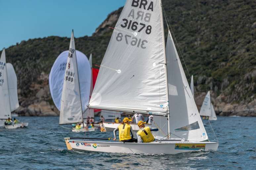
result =
M217 150L219 145L208 139L170 30L165 47L161 0L126 1L89 108L154 115L161 138L123 143L67 137L68 150L178 154Z

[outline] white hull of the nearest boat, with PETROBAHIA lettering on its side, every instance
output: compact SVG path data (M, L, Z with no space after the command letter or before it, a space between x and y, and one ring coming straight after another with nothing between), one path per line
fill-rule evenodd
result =
M139 154L179 154L192 151L216 151L219 142L192 142L181 140L154 141L151 143L123 143L81 141L65 138L68 150L108 152L108 153L139 153Z

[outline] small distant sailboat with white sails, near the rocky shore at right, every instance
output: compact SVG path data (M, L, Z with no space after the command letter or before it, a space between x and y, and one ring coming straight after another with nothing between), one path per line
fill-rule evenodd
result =
M210 91L207 92L199 113L200 116L207 116L209 120L217 120L216 113L211 103Z

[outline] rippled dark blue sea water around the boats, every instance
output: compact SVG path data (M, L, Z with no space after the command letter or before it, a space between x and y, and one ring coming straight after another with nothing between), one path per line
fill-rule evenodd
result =
M0 129L0 169L256 169L256 117L218 117L211 121L219 140L217 151L176 155L68 151L64 137L113 137L113 133L74 134L58 125L58 117L18 118L29 126ZM204 124L213 140L209 123Z

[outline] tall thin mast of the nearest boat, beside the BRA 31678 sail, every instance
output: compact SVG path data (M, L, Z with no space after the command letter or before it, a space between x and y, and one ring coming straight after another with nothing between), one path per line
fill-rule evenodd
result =
M162 24L162 39L163 39L163 49L164 49L164 63L165 63L165 79L166 79L166 98L167 98L167 123L168 123L168 135L167 139L169 139L170 135L170 109L169 109L169 91L168 91L168 76L167 76L167 62L166 62L166 51L165 51L165 36L164 36L164 24L163 24L163 10L162 10L162 0L159 0L160 6L160 16L161 16L161 24Z

